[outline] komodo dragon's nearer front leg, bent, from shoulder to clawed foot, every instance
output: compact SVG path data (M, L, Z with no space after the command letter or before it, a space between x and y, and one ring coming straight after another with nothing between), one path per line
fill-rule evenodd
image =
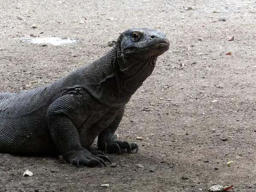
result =
M78 127L82 126L87 119L87 102L90 98L82 94L67 94L55 100L47 110L47 123L52 140L64 159L75 165L106 166L105 161L111 163L108 157L102 154L93 155L82 147L79 140ZM76 124L76 125L75 125ZM77 127L76 127L77 126ZM88 145L95 138L91 135Z

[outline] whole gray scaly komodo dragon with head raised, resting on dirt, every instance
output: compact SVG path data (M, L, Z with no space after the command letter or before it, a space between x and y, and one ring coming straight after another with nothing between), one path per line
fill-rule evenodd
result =
M60 152L75 165L102 166L103 152L128 153L136 143L114 134L125 104L169 49L164 33L128 29L105 56L45 87L0 94L0 152ZM89 151L95 138L101 151ZM111 162L110 162L111 163Z

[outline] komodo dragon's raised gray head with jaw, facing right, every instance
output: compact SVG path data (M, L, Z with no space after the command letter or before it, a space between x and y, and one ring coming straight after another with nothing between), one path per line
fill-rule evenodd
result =
M134 76L145 66L154 69L157 57L169 49L166 34L156 29L133 28L124 31L116 43L122 72Z

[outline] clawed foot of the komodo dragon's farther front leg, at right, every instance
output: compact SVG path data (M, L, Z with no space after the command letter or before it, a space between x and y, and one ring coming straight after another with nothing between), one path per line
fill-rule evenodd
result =
M116 135L113 135L113 137L108 141L98 141L98 148L104 153L117 154L124 153L125 149L127 153L131 153L131 151L134 149L136 149L135 153L137 153L139 150L139 147L136 143L129 143L127 141L118 140Z

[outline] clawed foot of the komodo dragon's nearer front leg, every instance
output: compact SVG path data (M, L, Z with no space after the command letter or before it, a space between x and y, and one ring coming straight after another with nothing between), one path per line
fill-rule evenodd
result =
M76 166L83 165L93 167L99 165L102 167L102 164L107 166L105 161L111 163L111 160L106 157L104 153L97 153L96 151L93 151L93 154L90 153L87 149L81 148L76 151L70 151L64 154L63 157L65 160L67 160L67 162Z

